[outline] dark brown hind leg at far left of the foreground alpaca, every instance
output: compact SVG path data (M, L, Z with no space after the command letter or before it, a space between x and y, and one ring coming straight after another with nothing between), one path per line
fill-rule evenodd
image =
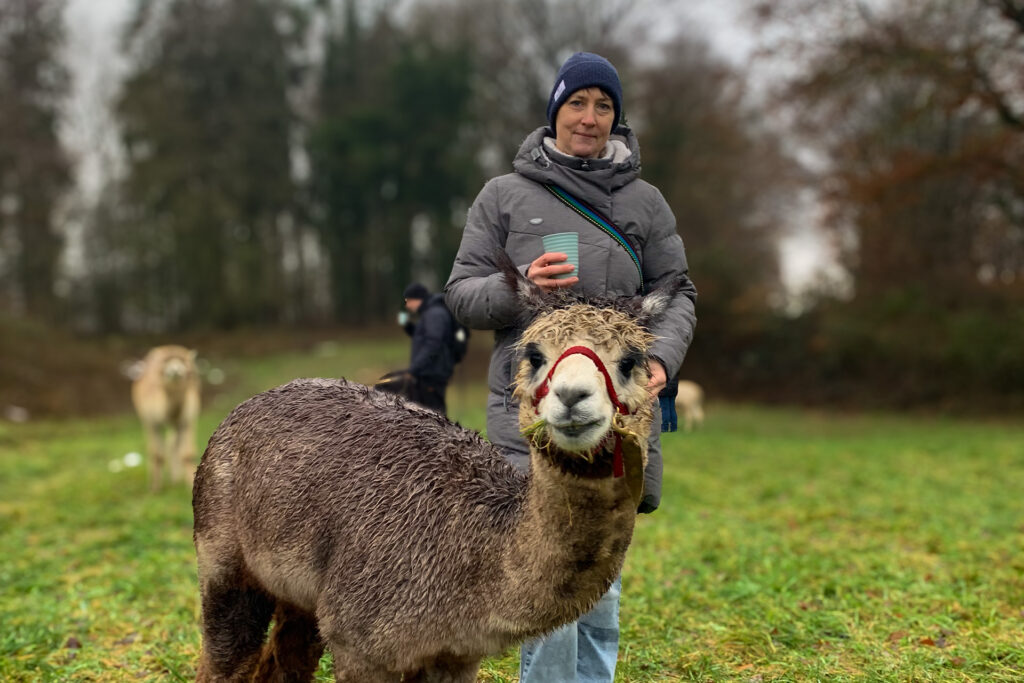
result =
M236 581L238 580L238 581ZM203 646L196 680L201 683L249 681L259 663L273 602L240 577L214 585L200 578L203 602Z

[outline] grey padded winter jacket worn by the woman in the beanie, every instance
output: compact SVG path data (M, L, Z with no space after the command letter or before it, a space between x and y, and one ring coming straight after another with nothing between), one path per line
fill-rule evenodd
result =
M679 372L696 325L696 290L687 278L683 241L676 220L656 187L640 179L640 147L633 132L620 126L611 136L618 154L607 159L581 159L553 151L544 142L547 127L530 133L512 165L514 173L489 180L476 197L452 275L444 287L452 313L476 330L495 331L495 348L487 377L487 437L520 469L529 466L528 449L519 434L519 407L511 396L515 362L512 347L521 330L516 308L502 282L494 254L503 248L525 273L544 253L542 237L552 232L580 233L580 282L588 296L624 296L640 292L636 265L612 238L553 197L542 183L555 183L609 218L640 257L647 291L682 279L683 288L663 323L650 355L669 377ZM652 425L641 511L657 507L662 494L660 424Z

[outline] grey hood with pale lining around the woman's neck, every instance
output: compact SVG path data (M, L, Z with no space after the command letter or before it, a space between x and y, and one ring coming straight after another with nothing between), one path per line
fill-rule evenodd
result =
M516 173L538 182L554 183L583 200L606 197L640 176L640 143L627 126L618 126L609 137L624 143L630 152L629 157L618 162L561 155L556 158L545 146L545 137L554 137L547 126L526 136L512 160Z

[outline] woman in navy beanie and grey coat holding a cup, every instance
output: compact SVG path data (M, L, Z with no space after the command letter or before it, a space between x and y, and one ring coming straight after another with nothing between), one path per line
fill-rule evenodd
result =
M578 52L562 65L548 103L548 126L530 133L513 161L514 172L488 181L466 223L445 299L469 328L495 331L487 398L487 436L516 467L529 468L529 451L519 434L518 405L510 385L515 371L513 298L493 255L504 249L523 274L545 290L571 287L588 296L634 295L664 282L684 286L668 315L653 330L658 337L649 360L651 400L683 362L696 324L696 290L687 279L683 242L662 194L640 179L640 150L622 117L618 74L604 57ZM609 219L636 253L599 229L556 197L556 185ZM580 237L579 271L566 255L544 253L542 238L562 231ZM565 276L569 273L568 276ZM562 278L557 278L562 275ZM640 512L652 512L662 489L657 421L650 436ZM616 581L594 609L546 638L523 644L522 683L610 681L618 647Z

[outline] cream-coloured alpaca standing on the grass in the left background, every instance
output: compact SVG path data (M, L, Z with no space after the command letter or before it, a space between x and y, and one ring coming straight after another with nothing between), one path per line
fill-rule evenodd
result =
M145 432L150 487L158 490L163 484L165 461L171 481L191 486L200 409L196 351L183 346L150 349L132 383L131 398Z

